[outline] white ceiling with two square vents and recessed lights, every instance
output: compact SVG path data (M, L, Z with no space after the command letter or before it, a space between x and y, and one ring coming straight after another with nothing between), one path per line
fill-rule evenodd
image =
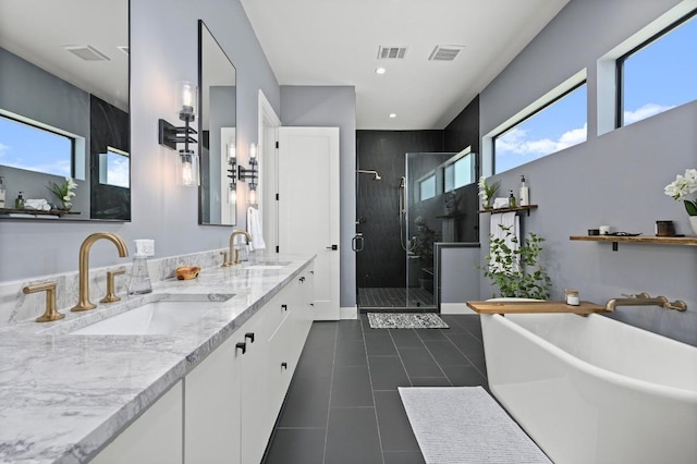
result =
M360 130L443 129L568 2L241 1L279 84L355 86ZM428 61L439 45L464 49ZM408 49L378 60L379 46Z

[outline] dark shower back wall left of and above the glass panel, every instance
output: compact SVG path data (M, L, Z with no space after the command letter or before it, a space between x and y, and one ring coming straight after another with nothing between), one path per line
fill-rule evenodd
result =
M357 175L356 232L365 237L365 247L356 255L358 288L405 285L399 216L404 155L442 148L443 131L356 131L357 169L378 171L382 178Z

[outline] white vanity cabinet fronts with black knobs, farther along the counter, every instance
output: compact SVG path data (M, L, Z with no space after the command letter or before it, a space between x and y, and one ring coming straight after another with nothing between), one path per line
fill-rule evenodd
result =
M259 463L311 325L311 265L184 381L187 464Z

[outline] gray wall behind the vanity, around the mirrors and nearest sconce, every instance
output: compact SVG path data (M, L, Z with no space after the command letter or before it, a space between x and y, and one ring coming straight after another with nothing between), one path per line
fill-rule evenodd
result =
M232 227L198 225L198 192L176 186L174 151L157 142L157 120L174 123L174 83L197 81L197 20L203 19L237 69L237 136L257 142L257 98L261 89L280 113L280 87L239 0L131 0L131 114L133 210L130 223L3 221L0 281L77 269L77 253L93 232L155 239L164 257L228 245ZM327 124L322 124L327 125ZM246 152L241 154L246 164ZM239 227L245 228L246 205ZM122 262L113 245L97 243L91 266Z

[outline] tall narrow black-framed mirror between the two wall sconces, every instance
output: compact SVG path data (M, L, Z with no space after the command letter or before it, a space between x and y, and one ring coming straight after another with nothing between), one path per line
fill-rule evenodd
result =
M198 221L208 225L233 225L236 223L236 73L203 21L198 22Z

